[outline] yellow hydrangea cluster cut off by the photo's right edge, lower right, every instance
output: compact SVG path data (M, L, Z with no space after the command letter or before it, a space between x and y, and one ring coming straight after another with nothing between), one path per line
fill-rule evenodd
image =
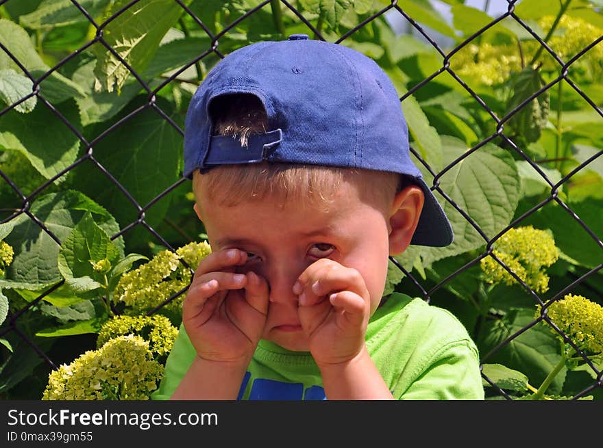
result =
M540 313L538 306L537 317ZM582 295L567 294L547 308L547 315L580 350L603 354L603 306Z

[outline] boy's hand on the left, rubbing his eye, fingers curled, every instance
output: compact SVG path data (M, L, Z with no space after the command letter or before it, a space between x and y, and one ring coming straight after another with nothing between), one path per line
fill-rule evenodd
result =
M238 249L212 252L199 263L182 305L182 322L197 355L247 367L268 309L268 283L254 272L236 274L247 261Z

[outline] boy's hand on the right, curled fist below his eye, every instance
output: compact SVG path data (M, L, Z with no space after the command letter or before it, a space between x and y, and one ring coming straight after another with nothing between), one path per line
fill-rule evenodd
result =
M319 367L345 363L365 346L371 300L356 269L330 259L308 266L293 286L299 320Z

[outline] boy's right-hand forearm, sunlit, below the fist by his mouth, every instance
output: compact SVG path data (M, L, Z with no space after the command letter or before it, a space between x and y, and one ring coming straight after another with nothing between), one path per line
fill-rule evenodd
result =
M366 347L347 363L319 365L330 400L393 399Z

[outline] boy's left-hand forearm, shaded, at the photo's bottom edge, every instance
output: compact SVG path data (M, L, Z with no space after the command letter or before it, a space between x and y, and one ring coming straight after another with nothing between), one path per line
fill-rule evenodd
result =
M208 361L195 357L170 399L234 400L247 365Z

